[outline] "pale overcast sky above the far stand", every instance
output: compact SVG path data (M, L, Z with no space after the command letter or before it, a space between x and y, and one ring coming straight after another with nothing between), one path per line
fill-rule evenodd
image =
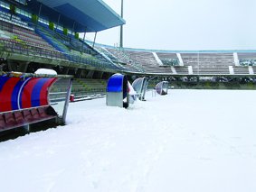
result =
M120 14L121 0L104 2ZM124 0L124 19L128 48L256 50L255 0ZM96 42L119 43L119 27L98 32Z

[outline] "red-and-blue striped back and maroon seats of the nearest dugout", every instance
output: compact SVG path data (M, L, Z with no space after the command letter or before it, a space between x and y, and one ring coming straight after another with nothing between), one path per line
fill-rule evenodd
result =
M46 109L50 88L58 79L0 73L0 132L18 127L28 131L31 123L56 119L58 115Z

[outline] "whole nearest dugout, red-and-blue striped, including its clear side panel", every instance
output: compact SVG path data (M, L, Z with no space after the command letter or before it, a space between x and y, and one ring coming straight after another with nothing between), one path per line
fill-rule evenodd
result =
M72 76L0 71L0 132L20 127L29 131L30 124L50 120L65 123L71 78ZM63 111L58 108L59 100L55 99L60 94L57 88L60 86L67 89L64 97L60 95L65 102ZM51 94L57 94L54 102L50 98ZM52 105L58 108L60 115L55 112Z

